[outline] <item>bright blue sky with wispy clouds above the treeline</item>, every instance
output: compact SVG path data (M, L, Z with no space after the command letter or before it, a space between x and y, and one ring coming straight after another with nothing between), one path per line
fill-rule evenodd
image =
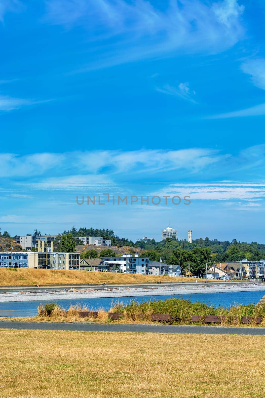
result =
M265 242L265 5L2 0L0 227ZM189 195L191 204L76 204Z

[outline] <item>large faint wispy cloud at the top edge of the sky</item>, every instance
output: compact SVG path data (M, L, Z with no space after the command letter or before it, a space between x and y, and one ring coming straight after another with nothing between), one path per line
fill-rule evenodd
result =
M170 53L219 53L244 36L244 6L237 0L171 0L164 12L146 0L47 0L46 7L46 22L82 26L88 37L93 30L93 39L116 36L100 62L91 60L76 72Z

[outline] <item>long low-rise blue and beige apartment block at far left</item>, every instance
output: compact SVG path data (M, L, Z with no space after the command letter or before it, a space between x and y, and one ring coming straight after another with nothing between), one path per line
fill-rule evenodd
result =
M12 256L12 261L11 261ZM79 269L79 253L59 252L2 252L1 268Z

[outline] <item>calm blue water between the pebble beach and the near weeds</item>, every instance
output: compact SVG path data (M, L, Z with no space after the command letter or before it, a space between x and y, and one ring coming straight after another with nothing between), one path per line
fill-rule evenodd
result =
M175 296L139 296L139 297L120 297L119 299L113 298L87 298L83 300L44 300L46 302L54 301L63 308L69 308L70 304L83 304L88 306L91 310L97 308L104 308L109 310L110 303L113 300L122 301L124 304L129 303L131 300L137 300L138 302L153 300L165 300L169 297L190 297L192 302L200 301L211 303L218 307L219 305L224 307L230 307L234 303L238 304L249 304L257 303L261 297L265 294L263 291L246 291L246 292L228 292L228 293L196 293L193 295L175 295ZM40 301L17 301L17 302L2 302L0 303L0 316L35 316L37 314L37 306Z

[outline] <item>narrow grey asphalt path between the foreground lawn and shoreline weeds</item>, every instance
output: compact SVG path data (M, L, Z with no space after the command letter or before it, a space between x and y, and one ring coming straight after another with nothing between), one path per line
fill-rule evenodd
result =
M0 322L0 329L67 330L77 332L244 334L265 336L265 328L234 328L224 326L147 325L111 323Z

